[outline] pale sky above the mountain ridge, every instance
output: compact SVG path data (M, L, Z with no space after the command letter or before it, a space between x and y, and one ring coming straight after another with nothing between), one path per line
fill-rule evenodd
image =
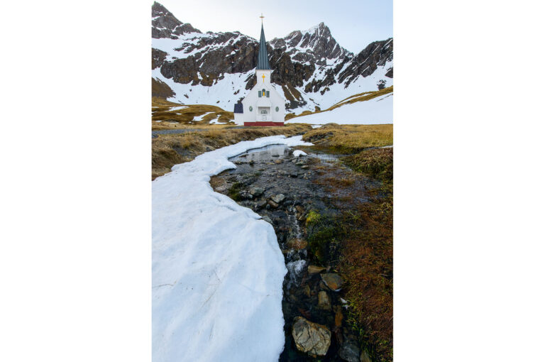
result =
M359 53L375 40L392 37L392 0L160 0L182 23L202 32L240 31L259 38L260 14L265 38L283 38L322 21L344 48ZM153 4L153 1L151 1Z

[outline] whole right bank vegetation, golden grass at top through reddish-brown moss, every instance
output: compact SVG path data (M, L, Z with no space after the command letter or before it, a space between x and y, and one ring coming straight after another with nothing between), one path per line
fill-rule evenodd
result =
M331 177L319 184L331 193L335 216L307 214L309 251L319 265L332 266L346 280L347 320L373 361L393 358L393 148L392 125L331 124L305 133L316 150L350 155L340 158L355 175L380 181L361 192L357 177ZM353 202L356 198L367 202Z

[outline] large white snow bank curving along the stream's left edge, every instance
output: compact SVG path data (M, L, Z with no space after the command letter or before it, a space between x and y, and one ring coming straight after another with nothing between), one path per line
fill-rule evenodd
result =
M284 258L260 216L212 190L227 160L301 136L244 141L199 155L152 182L153 362L278 361Z

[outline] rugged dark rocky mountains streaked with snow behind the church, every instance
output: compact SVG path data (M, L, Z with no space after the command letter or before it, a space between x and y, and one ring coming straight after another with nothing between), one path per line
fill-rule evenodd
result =
M202 33L158 2L152 6L151 31L154 97L232 111L256 82L259 46L255 38L238 31ZM392 38L353 54L319 23L270 40L268 55L271 81L284 94L291 113L328 108L353 94L393 84Z

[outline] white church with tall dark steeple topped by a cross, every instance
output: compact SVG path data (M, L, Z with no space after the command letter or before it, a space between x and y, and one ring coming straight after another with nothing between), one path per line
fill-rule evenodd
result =
M285 99L270 83L271 72L262 16L258 66L255 68L258 82L242 100L242 103L235 104L236 124L244 124L244 126L284 126Z

